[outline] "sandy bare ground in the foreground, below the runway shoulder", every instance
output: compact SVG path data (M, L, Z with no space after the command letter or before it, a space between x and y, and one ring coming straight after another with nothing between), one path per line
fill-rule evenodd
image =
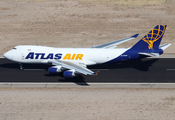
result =
M174 120L174 89L0 88L1 120Z

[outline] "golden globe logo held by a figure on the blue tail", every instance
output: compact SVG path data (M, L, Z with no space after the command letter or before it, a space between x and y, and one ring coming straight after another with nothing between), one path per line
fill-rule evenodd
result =
M165 28L165 25L158 25L142 38L144 42L148 43L148 49L153 49L153 43L163 36Z

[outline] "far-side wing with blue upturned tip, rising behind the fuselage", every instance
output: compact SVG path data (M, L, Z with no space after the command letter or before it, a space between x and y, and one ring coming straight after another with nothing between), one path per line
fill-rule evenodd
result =
M117 45L121 44L121 43L124 43L124 42L127 42L129 40L132 40L134 38L136 38L139 34L135 34L131 37L128 37L128 38L124 38L124 39L120 39L120 40L116 40L116 41L113 41L113 42L109 42L109 43L105 43L105 44L102 44L102 45L97 45L97 46L93 46L91 48L115 48L117 47Z

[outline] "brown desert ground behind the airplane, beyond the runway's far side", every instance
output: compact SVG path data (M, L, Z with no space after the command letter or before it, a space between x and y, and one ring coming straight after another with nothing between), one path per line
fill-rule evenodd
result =
M0 0L0 54L16 45L92 47L166 24L165 53L175 53L174 0Z

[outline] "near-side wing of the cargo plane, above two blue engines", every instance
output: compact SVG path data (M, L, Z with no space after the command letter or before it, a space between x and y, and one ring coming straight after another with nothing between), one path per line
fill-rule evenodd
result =
M76 64L76 63L72 63L72 62L68 62L68 61L60 61L60 60L54 60L54 61L50 61L50 62L52 63L52 65L55 65L55 66L60 65L61 67L65 68L65 69L75 70L76 73L81 73L84 75L97 75L97 73L89 70L85 66L81 66L81 65Z

